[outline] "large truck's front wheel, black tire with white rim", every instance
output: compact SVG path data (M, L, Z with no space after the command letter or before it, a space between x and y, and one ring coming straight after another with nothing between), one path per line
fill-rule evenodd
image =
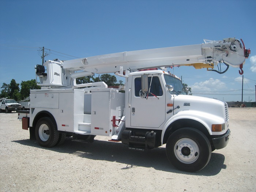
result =
M203 169L211 158L208 138L195 128L181 128L169 136L166 155L177 169L195 172Z

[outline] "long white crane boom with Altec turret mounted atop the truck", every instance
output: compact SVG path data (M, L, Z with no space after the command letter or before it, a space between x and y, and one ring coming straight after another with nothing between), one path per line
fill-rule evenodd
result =
M72 86L75 85L75 78L94 75L94 73L117 72L122 75L123 69L134 72L153 67L165 68L180 65L193 66L196 69L206 68L208 71L220 74L226 72L229 66L240 67L239 73L242 74L242 65L251 53L250 49L245 49L243 42L242 44L235 38L225 38L222 41L204 39L204 43L198 45L136 50L69 61L47 61L44 65L47 67L50 79L47 80L46 74L38 75L41 76L39 85L54 86L57 83L57 86L64 84ZM226 65L225 71L213 69L221 63ZM52 64L59 65L61 69L53 73L55 67ZM55 76L61 79L56 80Z

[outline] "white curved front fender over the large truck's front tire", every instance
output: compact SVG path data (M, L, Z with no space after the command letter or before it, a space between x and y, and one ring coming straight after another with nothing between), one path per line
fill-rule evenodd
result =
M178 113L174 114L169 120L166 121L165 125L163 126L162 136L161 136L161 143L163 144L163 138L165 135L166 130L168 127L177 120L181 119L190 119L195 120L201 123L208 131L210 135L222 135L226 132L226 129L222 132L212 132L211 125L212 124L223 124L226 123L223 121L222 117L216 116L211 113L200 112L197 110L183 110L179 111ZM227 126L226 126L227 127Z

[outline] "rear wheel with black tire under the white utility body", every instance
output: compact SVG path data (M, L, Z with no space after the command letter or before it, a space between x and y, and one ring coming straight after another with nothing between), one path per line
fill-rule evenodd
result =
M59 139L57 127L50 117L42 117L35 125L35 138L42 147L53 147Z

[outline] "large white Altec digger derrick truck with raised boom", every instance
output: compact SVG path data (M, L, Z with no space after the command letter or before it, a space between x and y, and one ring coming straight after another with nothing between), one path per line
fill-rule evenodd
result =
M241 39L242 40L242 39ZM93 142L109 136L131 149L166 144L169 161L194 172L211 152L229 142L227 103L186 95L180 78L167 67L188 65L223 73L240 67L250 54L235 38L203 44L137 50L69 61L48 60L35 67L41 90L30 91L30 111L20 111L22 128L42 147L73 140ZM224 64L226 69L213 69ZM124 70L125 69L125 70ZM154 69L154 70L153 70ZM76 84L76 78L115 72L125 78L125 93L104 82ZM79 89L78 89L79 88Z

